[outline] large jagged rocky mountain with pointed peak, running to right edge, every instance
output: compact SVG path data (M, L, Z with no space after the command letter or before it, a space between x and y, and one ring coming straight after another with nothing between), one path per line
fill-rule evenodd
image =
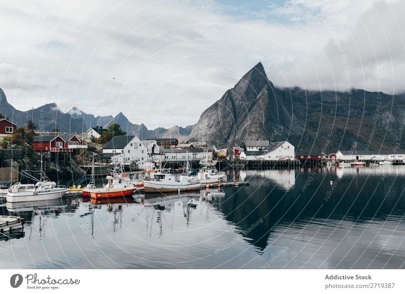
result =
M404 119L404 97L358 89L278 88L258 63L201 114L187 139L220 147L288 140L297 153L350 150L354 142L362 150L403 149Z

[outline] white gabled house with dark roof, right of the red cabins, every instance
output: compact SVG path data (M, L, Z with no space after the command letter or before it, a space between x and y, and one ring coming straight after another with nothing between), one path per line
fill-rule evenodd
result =
M103 148L103 153L112 156L124 154L124 161L144 161L148 157L148 149L138 136L114 136Z

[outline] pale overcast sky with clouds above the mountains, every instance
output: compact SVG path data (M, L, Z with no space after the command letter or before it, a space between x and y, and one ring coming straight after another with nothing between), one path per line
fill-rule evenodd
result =
M191 125L259 61L278 87L405 92L405 1L0 5L0 87L23 111Z

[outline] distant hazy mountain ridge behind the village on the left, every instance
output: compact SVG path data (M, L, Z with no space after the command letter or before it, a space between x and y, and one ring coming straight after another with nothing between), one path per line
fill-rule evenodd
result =
M18 126L24 126L28 120L33 119L37 128L44 131L51 131L57 128L62 132L77 132L79 134L87 131L90 127L102 126L107 128L112 123L118 123L129 135L137 135L141 139L149 137L176 137L181 141L190 134L192 129L192 126L185 128L174 126L169 129L156 128L148 130L144 124L137 125L131 123L121 112L115 117L111 115L96 117L93 114L87 114L73 107L68 112L63 113L55 103L46 104L33 110L20 111L8 103L6 94L2 88L0 88L0 113Z

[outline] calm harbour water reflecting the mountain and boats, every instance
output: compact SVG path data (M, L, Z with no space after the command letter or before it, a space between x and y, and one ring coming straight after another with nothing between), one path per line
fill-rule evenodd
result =
M1 268L404 268L405 166L228 171L250 186L0 204ZM333 182L331 184L331 181Z

